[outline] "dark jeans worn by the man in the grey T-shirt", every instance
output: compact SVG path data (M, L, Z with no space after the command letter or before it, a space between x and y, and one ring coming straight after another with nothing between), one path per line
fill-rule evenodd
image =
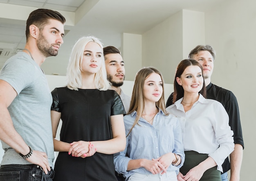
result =
M45 174L40 166L28 165L1 165L0 181L52 181L54 171Z

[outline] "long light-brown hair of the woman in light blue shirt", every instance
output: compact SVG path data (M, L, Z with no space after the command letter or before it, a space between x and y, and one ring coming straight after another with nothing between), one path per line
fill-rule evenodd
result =
M164 105L164 79L162 74L155 68L148 67L148 68L142 68L137 72L136 77L135 77L135 82L132 90L132 97L130 101L130 108L128 114L132 113L133 111L137 112L137 116L135 118L135 121L132 125L132 128L130 129L128 135L134 128L136 124L139 122L139 118L142 115L142 112L144 111L144 82L150 76L152 73L157 73L160 75L162 79L162 84L163 84L163 93L161 98L155 103L155 106L163 111L163 113L167 116L169 113L165 109Z

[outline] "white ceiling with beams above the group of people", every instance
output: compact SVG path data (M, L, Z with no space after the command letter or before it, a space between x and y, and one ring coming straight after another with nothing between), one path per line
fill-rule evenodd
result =
M93 35L104 46L121 47L122 33L143 34L182 9L205 12L222 0L0 0L0 68L26 43L25 24L38 8L60 11L66 18L64 44L43 63L45 74L65 75L75 41Z

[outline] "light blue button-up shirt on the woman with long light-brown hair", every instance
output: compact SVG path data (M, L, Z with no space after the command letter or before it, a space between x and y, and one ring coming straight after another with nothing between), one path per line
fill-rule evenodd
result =
M124 116L126 135L129 133L137 112L134 111ZM179 120L173 116L166 116L161 110L155 115L153 124L149 124L144 118L139 118L130 134L126 137L126 148L114 155L115 170L130 177L135 172L140 174L152 174L145 168L127 171L128 162L131 159L156 159L166 153L176 153L181 157L181 164L168 167L167 171L175 171L184 163L184 147L182 144L182 132ZM126 156L128 155L128 157Z

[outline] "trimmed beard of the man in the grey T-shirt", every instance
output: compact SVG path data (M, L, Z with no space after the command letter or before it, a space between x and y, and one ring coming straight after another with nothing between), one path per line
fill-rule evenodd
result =
M45 55L45 57L58 55L58 51L54 50L54 48L52 47L54 44L50 45L47 39L45 38L45 36L41 32L39 33L39 37L38 37L38 41L36 42L36 45L40 50L40 52L42 52L42 54ZM56 44L56 45L59 45L59 44Z

